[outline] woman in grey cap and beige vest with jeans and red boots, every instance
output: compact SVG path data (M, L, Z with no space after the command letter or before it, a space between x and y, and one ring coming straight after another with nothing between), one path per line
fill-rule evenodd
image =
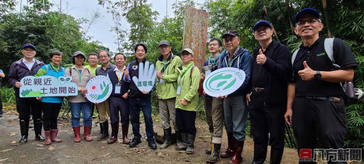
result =
M73 55L73 66L67 68L65 71L65 76L71 76L72 82L76 83L78 86L78 95L68 96L68 104L71 107L71 126L73 132L75 133L75 142L80 142L80 115L82 111L83 117L83 128L84 136L86 141L92 141L90 137L90 127L91 127L91 102L85 97L87 93L86 84L91 79L92 73L90 70L83 66L86 56L81 51L77 51Z

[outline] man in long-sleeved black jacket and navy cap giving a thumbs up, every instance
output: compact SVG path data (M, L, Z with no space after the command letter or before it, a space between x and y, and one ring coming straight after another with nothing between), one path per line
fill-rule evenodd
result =
M267 156L270 134L270 164L279 164L284 148L284 112L290 52L287 46L272 39L272 26L259 20L253 27L260 47L253 51L251 94L246 95L254 138L252 164L262 164Z

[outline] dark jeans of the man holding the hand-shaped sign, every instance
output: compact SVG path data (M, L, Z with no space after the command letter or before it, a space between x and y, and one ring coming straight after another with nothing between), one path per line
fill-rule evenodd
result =
M130 123L134 137L141 138L139 126L140 110L143 112L147 141L155 140L152 120L152 105L150 98L129 97Z

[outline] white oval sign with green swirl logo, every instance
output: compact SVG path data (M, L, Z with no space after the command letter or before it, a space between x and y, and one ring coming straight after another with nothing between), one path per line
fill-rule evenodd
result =
M203 81L203 90L212 97L225 96L236 91L245 80L243 70L226 67L207 75Z

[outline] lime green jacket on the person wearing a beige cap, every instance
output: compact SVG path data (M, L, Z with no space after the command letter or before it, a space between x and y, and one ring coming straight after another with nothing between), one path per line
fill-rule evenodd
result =
M196 66L193 67L194 65L195 64L193 61L191 61L183 65L182 70L180 70L178 67L175 69L176 73L178 74L177 82L179 85L181 85L180 94L176 97L175 108L187 111L197 111L200 70ZM191 69L193 69L192 74ZM181 102L178 101L178 99L182 98L187 100L187 105L182 105Z

